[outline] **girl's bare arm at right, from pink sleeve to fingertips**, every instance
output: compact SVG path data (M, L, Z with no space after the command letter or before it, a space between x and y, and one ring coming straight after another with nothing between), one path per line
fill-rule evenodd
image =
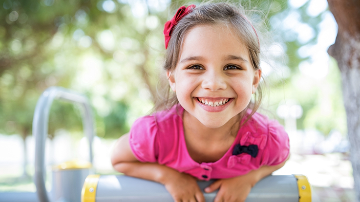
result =
M257 170L252 170L249 173L234 178L217 180L209 187L205 188L205 192L210 193L216 189L217 192L214 202L244 202L248 197L251 188L264 177L270 175L275 170L285 165L289 157L279 165L264 165Z

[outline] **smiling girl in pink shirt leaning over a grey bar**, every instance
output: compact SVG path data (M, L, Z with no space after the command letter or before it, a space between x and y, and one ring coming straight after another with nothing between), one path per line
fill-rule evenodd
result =
M168 110L139 118L111 162L164 184L175 202L205 202L196 180L218 179L215 202L243 202L285 164L289 138L259 107L260 44L250 21L226 3L181 7L165 24ZM168 91L169 92L169 91ZM251 102L255 93L254 103Z

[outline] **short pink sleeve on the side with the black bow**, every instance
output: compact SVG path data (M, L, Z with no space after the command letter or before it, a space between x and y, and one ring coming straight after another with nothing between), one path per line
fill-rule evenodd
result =
M284 162L290 153L289 136L275 120L269 122L268 140L264 148L261 165L278 165Z

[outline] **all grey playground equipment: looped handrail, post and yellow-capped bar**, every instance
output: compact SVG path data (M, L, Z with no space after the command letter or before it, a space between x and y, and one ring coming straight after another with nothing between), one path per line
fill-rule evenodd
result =
M49 111L54 99L82 107L90 161L69 161L53 166L49 193L45 188L44 153ZM0 202L172 202L162 184L124 175L92 175L94 123L84 95L60 87L46 89L35 108L33 135L36 138L34 182L37 192L0 192ZM203 190L212 182L199 181L198 184ZM207 202L212 202L216 192L204 193L204 196ZM246 202L311 202L311 187L302 175L268 176L253 187Z

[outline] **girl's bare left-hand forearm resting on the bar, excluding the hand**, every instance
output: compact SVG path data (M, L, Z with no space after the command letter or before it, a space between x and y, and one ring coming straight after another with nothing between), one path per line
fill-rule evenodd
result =
M157 163L122 162L113 165L113 167L127 176L151 180L161 184L165 184L169 176L180 174L175 169Z

